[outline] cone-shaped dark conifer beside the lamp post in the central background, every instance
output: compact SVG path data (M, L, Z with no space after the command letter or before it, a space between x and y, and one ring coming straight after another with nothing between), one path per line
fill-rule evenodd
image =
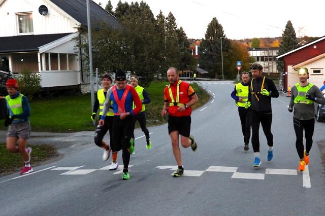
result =
M229 39L225 37L222 25L214 17L207 27L205 39L201 41L201 58L199 59L200 67L209 71L209 76L213 78L221 77L221 41L222 53L227 53L230 45Z

